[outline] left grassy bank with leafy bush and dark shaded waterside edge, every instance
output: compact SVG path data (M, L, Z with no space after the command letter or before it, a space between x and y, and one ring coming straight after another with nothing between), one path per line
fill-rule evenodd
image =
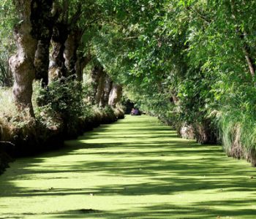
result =
M49 85L48 90L40 90L36 84L35 118L29 117L26 111L18 112L11 88L0 88L0 173L8 166L9 156L54 150L62 147L64 140L76 139L84 131L124 118L119 106L97 107L84 99L83 92L68 92L73 86L80 84L59 82Z

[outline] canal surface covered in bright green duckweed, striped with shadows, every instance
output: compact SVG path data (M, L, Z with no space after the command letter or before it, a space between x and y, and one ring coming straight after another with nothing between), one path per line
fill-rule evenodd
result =
M256 172L148 116L101 126L0 176L0 218L256 218Z

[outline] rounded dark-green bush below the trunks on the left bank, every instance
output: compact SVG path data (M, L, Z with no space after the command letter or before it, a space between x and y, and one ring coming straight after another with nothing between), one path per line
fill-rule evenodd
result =
M42 123L51 127L62 120L64 132L74 137L78 132L79 119L86 116L85 113L88 114L83 99L85 96L83 85L72 77L54 80L48 88L39 88L37 91L37 116Z

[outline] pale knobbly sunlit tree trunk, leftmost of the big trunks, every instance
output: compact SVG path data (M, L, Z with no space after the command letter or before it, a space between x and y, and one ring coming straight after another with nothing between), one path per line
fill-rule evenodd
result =
M13 94L18 110L29 109L34 116L32 107L32 83L35 76L34 55L37 49L37 40L32 36L31 0L15 1L17 11L20 12L20 22L15 26L14 37L18 51L9 60L10 69L14 76Z

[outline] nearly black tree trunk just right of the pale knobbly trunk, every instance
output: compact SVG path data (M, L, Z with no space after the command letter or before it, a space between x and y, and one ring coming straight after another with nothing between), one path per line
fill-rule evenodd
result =
M37 10L37 51L34 58L34 66L36 69L36 79L42 80L42 86L48 85L48 69L49 69L49 48L50 39L53 34L53 24L55 22L52 14L53 0L38 1Z

